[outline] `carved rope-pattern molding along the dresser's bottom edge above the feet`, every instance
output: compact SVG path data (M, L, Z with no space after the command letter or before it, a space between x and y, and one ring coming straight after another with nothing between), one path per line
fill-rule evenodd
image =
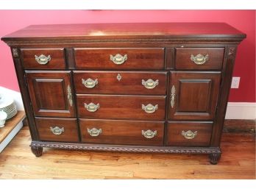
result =
M46 143L32 141L32 147L45 147L54 149L82 149L99 151L130 151L130 152L158 152L158 153L176 153L176 154L213 154L221 153L218 147L212 148L177 148L177 147L156 147L156 146L110 146L82 143Z

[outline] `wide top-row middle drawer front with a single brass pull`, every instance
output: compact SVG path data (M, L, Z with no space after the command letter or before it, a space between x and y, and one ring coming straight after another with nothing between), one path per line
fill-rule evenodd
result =
M74 49L77 68L161 69L163 48Z

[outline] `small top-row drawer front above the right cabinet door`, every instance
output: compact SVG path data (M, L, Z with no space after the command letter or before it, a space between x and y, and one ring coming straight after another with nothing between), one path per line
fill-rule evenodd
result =
M221 70L224 48L177 48L175 65L184 70Z

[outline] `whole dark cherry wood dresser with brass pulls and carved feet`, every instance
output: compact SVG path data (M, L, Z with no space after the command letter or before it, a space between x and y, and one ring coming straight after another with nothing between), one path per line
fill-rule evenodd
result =
M209 154L220 140L235 53L227 24L28 26L12 51L32 152L43 147Z

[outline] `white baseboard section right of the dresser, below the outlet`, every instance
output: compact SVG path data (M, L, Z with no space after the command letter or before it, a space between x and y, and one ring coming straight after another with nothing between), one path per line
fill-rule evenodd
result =
M229 102L226 119L256 119L256 102Z

